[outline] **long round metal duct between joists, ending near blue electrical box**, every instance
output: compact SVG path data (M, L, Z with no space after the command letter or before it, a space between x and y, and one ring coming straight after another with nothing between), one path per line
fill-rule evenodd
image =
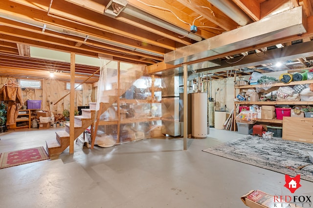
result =
M193 40L196 40L196 41L201 41L202 38L200 36L196 36L195 34L193 33L190 33L186 30L183 30L175 25L172 25L172 24L169 24L168 22L162 20L162 19L156 19L156 17L148 14L148 13L145 13L141 10L138 10L136 8L128 8L128 7L125 7L124 10L123 10L124 13L128 14L128 15L131 15L133 17L136 17L138 19L142 19L144 21L147 21L147 22L150 22L152 24L155 24L159 27L162 27L164 29L167 29L167 30L170 30L174 33L178 33L179 35L182 35L184 37L187 37L187 38L191 38Z

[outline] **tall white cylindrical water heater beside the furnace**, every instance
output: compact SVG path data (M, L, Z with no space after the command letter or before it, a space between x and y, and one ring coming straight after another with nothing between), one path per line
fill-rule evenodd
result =
M191 136L206 138L207 136L207 94L191 94Z

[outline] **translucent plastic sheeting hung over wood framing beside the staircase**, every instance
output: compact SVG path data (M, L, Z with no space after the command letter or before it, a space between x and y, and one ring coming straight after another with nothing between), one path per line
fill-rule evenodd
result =
M118 63L120 67L118 67ZM118 70L120 83L117 83ZM98 126L95 144L109 147L112 142L119 144L162 135L161 94L159 92L161 82L159 78L153 80L151 76L142 76L143 72L143 65L108 61L101 58L96 111L99 111L101 102L105 106L106 103L111 105L114 96L116 96L116 100L100 115L99 123L101 125ZM154 102L152 102L151 90L153 83L155 87ZM119 106L117 105L117 90L121 95ZM159 120L149 121L154 117L159 117ZM112 122L116 125L112 125Z

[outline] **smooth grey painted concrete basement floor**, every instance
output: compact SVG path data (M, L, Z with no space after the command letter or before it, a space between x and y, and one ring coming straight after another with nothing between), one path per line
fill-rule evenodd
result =
M0 152L38 146L55 131L0 133ZM93 150L75 145L58 159L0 169L2 208L245 208L251 189L291 195L284 174L203 152L242 137L210 129L206 139L154 138ZM313 195L301 181L296 195Z

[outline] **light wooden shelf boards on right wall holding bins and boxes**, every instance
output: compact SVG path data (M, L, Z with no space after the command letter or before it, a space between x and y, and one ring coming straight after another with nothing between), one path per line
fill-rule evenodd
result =
M258 84L258 85L242 85L242 86L235 86L235 95L238 95L238 93L242 92L243 89L255 89L255 88L262 88L264 86L267 87L271 87L268 91L273 91L273 90L277 90L279 87L281 86L294 86L294 85L300 85L300 84L312 84L313 80L304 80L304 81L291 81L288 84L279 82L279 83L273 83L270 85L262 85L262 84ZM264 92L268 92L268 91L264 91ZM235 109L237 109L238 106L240 105L258 105L258 106L262 106L262 105L291 105L291 106L295 106L295 105L313 105L312 101L234 101L234 107ZM236 131L236 120L235 120L234 116L234 131ZM278 120L278 119L257 119L257 122L262 122L262 123L274 123L274 124L283 124L283 120Z

